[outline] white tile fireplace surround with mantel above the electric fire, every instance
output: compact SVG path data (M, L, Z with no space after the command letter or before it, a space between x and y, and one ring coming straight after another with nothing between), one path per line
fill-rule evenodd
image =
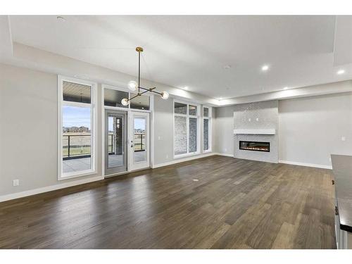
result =
M234 157L253 161L278 163L278 101L245 103L234 109ZM250 145L240 149L240 142L268 142L263 146ZM267 144L265 144L267 145Z

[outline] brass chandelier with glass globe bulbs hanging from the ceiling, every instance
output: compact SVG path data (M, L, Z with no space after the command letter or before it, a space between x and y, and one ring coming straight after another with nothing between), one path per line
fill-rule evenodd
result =
M127 98L122 99L121 100L122 106L127 106L132 99L136 98L137 96L141 96L142 94L145 94L146 92L153 92L153 93L159 94L162 99L165 99L165 100L168 99L169 93L166 91L156 92L156 91L154 91L154 89L156 89L156 87L153 87L153 88L141 87L141 85L140 85L140 82L141 82L141 52L143 52L143 48L141 48L140 46L137 46L136 51L138 52L138 83L135 81L128 82L128 89L130 89L132 92L137 92L137 95L133 96L130 99L127 99ZM141 92L141 89L143 90L143 92Z

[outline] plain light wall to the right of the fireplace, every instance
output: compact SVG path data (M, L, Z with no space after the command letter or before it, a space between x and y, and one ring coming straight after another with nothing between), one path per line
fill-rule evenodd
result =
M352 155L352 94L279 101L279 160L329 166L331 153Z

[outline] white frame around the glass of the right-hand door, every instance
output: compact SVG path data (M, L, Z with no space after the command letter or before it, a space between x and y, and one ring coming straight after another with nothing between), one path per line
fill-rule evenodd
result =
M134 148L133 148L133 140L134 140L134 117L142 117L146 118L146 161L140 161L140 162L134 162ZM150 138L151 138L151 118L150 118L150 113L143 113L140 111L130 111L130 117L128 118L130 121L129 127L129 144L128 148L130 149L129 151L129 171L134 171L134 170L142 170L144 168L150 168L151 167L151 144L150 144Z

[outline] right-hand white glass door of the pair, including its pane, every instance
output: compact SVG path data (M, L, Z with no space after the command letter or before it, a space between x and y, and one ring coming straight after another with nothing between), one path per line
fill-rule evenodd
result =
M130 112L129 117L129 170L150 166L150 113Z

